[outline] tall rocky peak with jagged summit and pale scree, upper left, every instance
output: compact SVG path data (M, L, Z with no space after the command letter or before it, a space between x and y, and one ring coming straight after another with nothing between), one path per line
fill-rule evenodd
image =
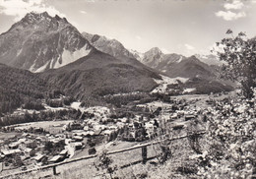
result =
M0 63L32 72L67 65L94 47L65 18L29 13L0 34Z

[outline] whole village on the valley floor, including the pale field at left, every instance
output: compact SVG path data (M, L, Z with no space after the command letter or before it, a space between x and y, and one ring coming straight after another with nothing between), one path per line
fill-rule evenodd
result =
M166 128L167 125L172 134L186 132L189 121L202 113L200 107L189 105L197 100L186 102L174 98L170 103L154 101L137 105L141 110L149 110L152 117L116 118L107 107L96 106L84 110L84 120L35 122L2 128L2 133L17 134L0 141L2 170L27 170L82 153L95 154L97 146L113 141L147 142L158 135L160 126Z

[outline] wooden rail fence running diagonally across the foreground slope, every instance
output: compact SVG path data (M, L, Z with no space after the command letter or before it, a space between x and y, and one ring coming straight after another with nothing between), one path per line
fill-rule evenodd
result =
M111 155L111 154L116 154L116 153L129 151L129 150L133 150L133 149L142 149L142 162L146 163L147 160L154 158L154 157L151 157L151 158L147 157L147 147L160 144L164 141L169 141L170 142L170 141L184 139L184 138L187 138L187 137L189 137L191 135L195 135L195 134L196 135L204 135L205 133L206 133L205 131L198 131L197 133L188 134L188 135L184 135L184 136L177 136L177 137L174 137L174 138L171 138L171 139L166 138L166 139L163 139L163 140L160 140L160 141L150 142L150 143L146 143L146 144L142 144L142 145L137 145L137 146L131 147L131 148L117 149L117 150L113 150L113 151L108 151L106 154ZM8 178L8 177L15 177L15 176L18 176L18 175L28 174L28 173L31 173L33 171L40 171L40 170L51 169L51 168L52 168L52 171L53 171L53 175L56 175L57 174L57 169L56 169L57 166L73 163L73 162L80 161L80 160L95 158L96 156L97 156L97 154L92 154L92 155L88 155L88 156L74 158L74 159L70 159L68 161L62 161L62 162L55 163L55 164L45 165L45 166L42 166L42 167L39 167L39 168L34 168L34 169L22 171L22 172L17 172L17 173L5 175L5 176L0 176L0 179L4 179L4 178ZM138 163L138 162L135 162L134 164L136 164L136 163ZM131 163L129 165L131 165ZM125 167L125 166L122 166L122 167Z

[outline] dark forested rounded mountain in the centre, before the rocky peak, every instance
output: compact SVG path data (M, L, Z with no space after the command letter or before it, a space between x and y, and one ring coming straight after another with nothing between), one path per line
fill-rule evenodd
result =
M114 93L150 92L158 86L154 79L160 79L158 73L142 64L129 64L98 50L40 75L80 100Z

